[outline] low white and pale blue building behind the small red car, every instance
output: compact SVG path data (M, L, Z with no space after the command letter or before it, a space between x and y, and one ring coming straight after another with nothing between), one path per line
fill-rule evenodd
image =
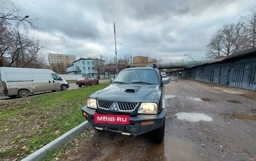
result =
M82 74L82 75L90 75L98 74L95 65L96 61L104 63L104 61L98 59L91 58L80 58L73 62L73 65L67 67L67 74Z

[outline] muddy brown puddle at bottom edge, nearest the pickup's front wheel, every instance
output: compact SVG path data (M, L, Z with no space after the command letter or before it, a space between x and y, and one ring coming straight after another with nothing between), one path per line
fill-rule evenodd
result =
M178 137L164 140L164 157L167 160L202 160L196 155L193 144Z

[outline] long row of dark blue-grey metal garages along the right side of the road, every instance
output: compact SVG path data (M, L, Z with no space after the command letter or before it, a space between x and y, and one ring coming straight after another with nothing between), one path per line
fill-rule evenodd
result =
M256 91L256 53L174 71L171 75Z

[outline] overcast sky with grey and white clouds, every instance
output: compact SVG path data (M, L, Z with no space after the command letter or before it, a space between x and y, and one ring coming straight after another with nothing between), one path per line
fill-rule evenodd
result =
M249 14L249 0L53 1L13 0L21 15L40 17L43 53L76 58L103 54L117 58L148 56L163 62L205 58L211 35Z

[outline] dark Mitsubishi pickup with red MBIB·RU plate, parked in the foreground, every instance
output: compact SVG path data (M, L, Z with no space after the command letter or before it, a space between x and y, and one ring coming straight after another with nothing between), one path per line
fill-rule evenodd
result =
M140 135L149 132L155 142L164 139L166 99L162 78L152 67L127 68L110 79L111 85L90 95L81 109L97 130Z

